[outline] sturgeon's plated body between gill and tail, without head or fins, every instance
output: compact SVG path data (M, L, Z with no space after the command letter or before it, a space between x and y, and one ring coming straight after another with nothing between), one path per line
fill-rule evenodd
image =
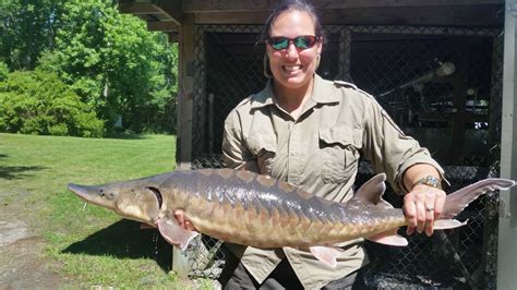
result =
M276 179L235 170L177 172L164 184L173 209L224 241L256 247L333 244L405 225L401 209L329 203Z

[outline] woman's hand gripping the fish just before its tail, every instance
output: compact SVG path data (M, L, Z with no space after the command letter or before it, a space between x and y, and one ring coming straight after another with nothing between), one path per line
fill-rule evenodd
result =
M426 235L433 234L434 220L442 216L445 192L425 184L418 184L404 197L404 213L408 220L408 234L414 230Z

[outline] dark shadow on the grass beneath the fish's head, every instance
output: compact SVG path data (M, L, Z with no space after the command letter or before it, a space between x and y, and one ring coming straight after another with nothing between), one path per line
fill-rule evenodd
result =
M161 238L158 230L141 230L140 222L128 219L69 245L62 253L152 258L164 271L170 271L172 265L172 245Z

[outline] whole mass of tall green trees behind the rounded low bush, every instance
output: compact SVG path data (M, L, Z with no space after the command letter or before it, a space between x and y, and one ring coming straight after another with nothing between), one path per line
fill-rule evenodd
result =
M108 130L121 116L124 130L175 132L177 51L116 1L0 1L0 61L56 73Z

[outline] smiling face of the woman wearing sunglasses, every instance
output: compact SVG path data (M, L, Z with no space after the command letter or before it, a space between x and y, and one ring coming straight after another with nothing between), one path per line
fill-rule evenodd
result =
M296 10L278 15L269 32L270 37L294 38L303 35L315 35L314 22L306 12ZM268 44L266 50L275 86L296 89L310 84L316 70L317 56L322 52L322 43L318 40L312 48L300 49L290 41L282 50L275 50Z

